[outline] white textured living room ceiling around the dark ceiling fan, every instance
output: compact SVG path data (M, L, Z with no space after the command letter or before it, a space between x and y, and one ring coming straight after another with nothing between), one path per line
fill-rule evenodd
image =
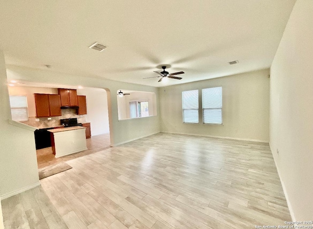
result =
M151 86L167 64L185 74L166 85L188 83L268 68L294 2L1 0L0 49L7 64Z

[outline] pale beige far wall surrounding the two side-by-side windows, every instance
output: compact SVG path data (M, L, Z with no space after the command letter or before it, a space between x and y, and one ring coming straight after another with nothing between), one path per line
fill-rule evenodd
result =
M161 131L222 136L268 142L269 71L260 70L217 79L159 88ZM181 92L223 87L223 125L182 123ZM199 104L201 107L201 104Z

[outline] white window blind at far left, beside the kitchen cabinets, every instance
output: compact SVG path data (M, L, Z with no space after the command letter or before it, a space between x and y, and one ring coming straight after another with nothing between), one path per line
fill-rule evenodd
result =
M27 97L25 95L10 95L12 120L28 121Z

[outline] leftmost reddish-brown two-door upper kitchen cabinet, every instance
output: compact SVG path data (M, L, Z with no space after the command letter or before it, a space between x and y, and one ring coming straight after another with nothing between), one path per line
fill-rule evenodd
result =
M60 95L34 94L34 96L37 117L62 115Z

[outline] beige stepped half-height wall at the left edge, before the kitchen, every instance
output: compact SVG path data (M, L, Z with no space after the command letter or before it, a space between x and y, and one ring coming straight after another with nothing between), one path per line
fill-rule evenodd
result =
M0 51L0 195L8 197L39 185L34 132L9 124L7 76Z

